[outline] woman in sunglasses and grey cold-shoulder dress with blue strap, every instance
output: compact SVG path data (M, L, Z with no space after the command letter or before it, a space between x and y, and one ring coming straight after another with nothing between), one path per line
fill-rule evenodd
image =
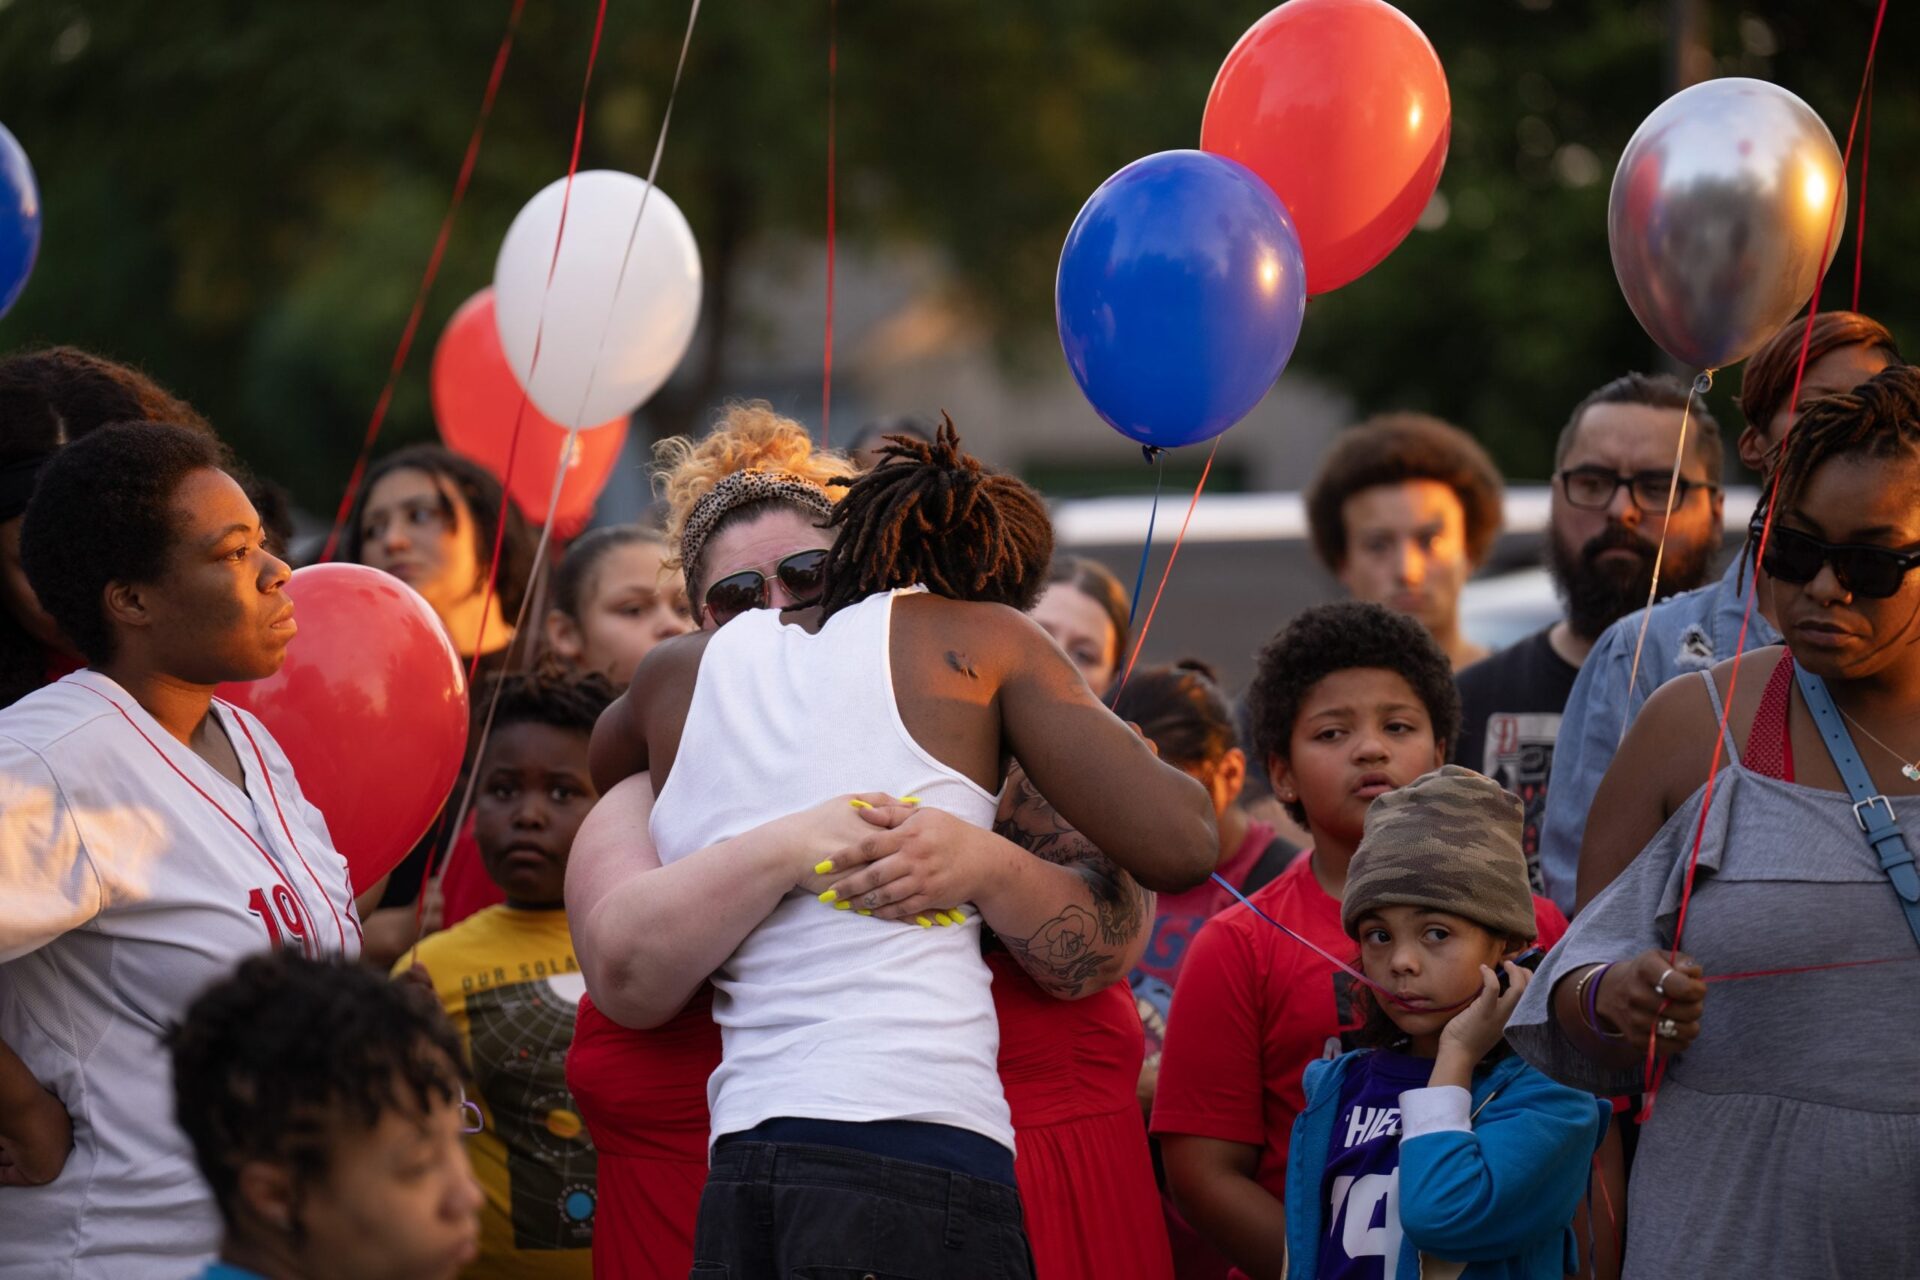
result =
M1761 503L1786 645L1647 700L1588 821L1590 902L1507 1027L1569 1084L1657 1084L1626 1280L1920 1259L1916 497L1920 370L1805 411Z

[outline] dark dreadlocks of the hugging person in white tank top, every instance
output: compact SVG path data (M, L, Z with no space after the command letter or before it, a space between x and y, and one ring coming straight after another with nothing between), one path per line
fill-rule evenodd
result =
M941 415L933 443L897 436L874 470L849 482L828 518L824 616L876 591L924 583L954 601L1033 608L1054 555L1041 495L960 451Z

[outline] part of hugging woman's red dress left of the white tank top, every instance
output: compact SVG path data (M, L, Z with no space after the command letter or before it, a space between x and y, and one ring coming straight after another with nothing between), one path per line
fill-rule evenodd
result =
M712 988L653 1031L580 998L566 1086L599 1151L597 1280L685 1280L707 1186L707 1077L720 1065Z

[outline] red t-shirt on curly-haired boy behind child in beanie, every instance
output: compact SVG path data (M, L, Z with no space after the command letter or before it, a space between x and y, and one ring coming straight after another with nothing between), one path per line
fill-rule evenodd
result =
M1331 956L1357 960L1340 900L1313 877L1311 850L1250 900ZM1567 917L1546 898L1534 898L1534 919L1542 948L1567 933ZM1286 1144L1306 1107L1302 1075L1309 1061L1352 1048L1346 1036L1363 1021L1354 986L1244 906L1215 915L1173 986L1152 1130L1261 1148L1254 1178L1284 1201Z

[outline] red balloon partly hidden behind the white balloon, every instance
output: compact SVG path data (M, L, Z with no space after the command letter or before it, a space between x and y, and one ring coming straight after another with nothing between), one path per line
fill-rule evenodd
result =
M561 449L566 447L566 428L541 415L520 391L499 347L493 290L480 290L447 320L440 347L434 349L432 382L440 439L495 476L507 474L513 422L520 416L520 447L513 457L507 493L528 520L545 524L547 499L553 497L553 470L561 461ZM588 426L574 436L561 501L553 509L555 533L572 537L586 528L624 443L626 418Z

